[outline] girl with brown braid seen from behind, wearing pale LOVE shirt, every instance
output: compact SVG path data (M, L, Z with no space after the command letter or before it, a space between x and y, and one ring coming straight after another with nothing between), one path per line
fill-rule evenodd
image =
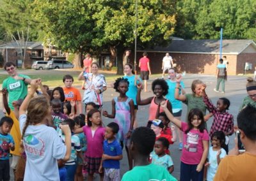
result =
M42 96L33 98L40 82L31 80L31 89L19 110L21 140L27 156L24 180L60 180L57 159L67 161L70 157L70 128L61 126L66 136L64 145L55 129L47 126L51 120L49 102Z

